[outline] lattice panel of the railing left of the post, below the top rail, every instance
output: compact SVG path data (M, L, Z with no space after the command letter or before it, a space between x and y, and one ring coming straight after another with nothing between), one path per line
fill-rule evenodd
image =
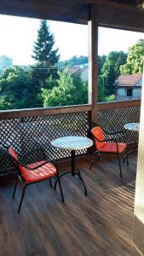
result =
M43 148L47 158L61 159L69 156L70 152L56 149L50 142L56 137L87 136L87 131L88 112L6 119L0 120L0 144L14 147L19 154ZM85 152L78 150L77 154ZM14 172L14 166L1 153L0 176L10 172Z

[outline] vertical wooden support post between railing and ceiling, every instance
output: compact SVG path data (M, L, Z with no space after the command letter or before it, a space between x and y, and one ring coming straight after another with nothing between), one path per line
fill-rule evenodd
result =
M98 11L95 4L89 5L89 104L92 105L91 121L97 123L98 95Z

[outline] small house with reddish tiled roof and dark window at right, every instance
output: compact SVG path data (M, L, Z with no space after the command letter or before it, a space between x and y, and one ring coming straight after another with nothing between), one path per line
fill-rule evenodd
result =
M113 86L115 86L116 101L140 99L142 75L119 75Z

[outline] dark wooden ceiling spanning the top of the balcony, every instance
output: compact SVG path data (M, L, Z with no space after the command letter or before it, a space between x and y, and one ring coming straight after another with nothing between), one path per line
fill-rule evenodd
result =
M136 0L0 0L0 14L88 24L89 9L96 9L100 26L143 29L144 12L135 10L136 3Z

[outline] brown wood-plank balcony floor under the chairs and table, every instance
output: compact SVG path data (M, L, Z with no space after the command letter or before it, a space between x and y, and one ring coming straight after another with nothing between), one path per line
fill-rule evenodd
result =
M0 256L130 256L136 155L129 167L123 164L123 181L117 160L95 163L91 171L89 161L78 161L88 197L78 178L67 175L65 205L47 181L27 188L17 214L20 185L14 201L13 184L0 187Z

